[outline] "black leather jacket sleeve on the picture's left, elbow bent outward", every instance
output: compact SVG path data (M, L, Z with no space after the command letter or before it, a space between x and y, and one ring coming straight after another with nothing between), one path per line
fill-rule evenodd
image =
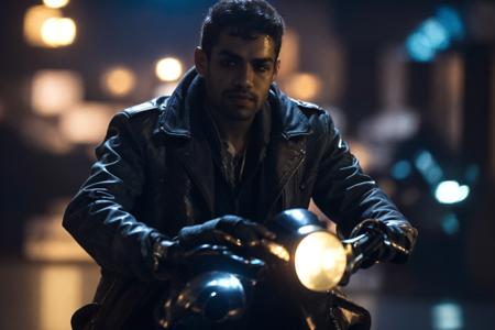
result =
M143 189L144 152L128 113L112 119L96 154L97 162L68 205L63 226L103 268L151 279L152 246L160 234L131 213Z

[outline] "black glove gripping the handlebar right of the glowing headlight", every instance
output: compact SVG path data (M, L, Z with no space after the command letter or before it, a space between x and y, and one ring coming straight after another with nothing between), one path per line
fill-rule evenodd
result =
M354 244L363 254L361 268L371 267L376 262L405 263L413 252L417 231L407 221L380 221L367 219L351 232L351 239L364 234Z

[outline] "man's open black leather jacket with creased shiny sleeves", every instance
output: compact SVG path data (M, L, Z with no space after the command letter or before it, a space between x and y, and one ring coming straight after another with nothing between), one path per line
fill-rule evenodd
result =
M185 226L213 218L211 151L190 100L200 79L193 69L169 98L118 113L65 212L64 227L102 268L99 329L119 329L122 316L144 304L155 235L173 238ZM272 136L260 189L266 219L307 208L312 197L342 235L374 218L411 246L416 230L362 173L329 113L288 98L275 85L268 100Z

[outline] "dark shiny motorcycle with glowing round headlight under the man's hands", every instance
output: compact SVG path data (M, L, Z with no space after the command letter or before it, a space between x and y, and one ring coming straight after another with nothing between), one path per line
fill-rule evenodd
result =
M266 227L276 239L256 246L241 246L232 238L229 246L204 244L189 251L183 275L160 299L158 328L234 328L256 308L256 292L275 286L284 296L280 304L296 306L297 329L370 329L370 314L338 287L378 244L387 243L386 237L360 234L341 241L306 209L286 210Z

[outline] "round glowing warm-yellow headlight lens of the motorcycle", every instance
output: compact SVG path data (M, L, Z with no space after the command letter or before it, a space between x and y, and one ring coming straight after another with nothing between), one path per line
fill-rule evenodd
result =
M314 292L336 287L345 272L345 250L339 239L324 231L304 238L295 255L296 274L300 283Z

